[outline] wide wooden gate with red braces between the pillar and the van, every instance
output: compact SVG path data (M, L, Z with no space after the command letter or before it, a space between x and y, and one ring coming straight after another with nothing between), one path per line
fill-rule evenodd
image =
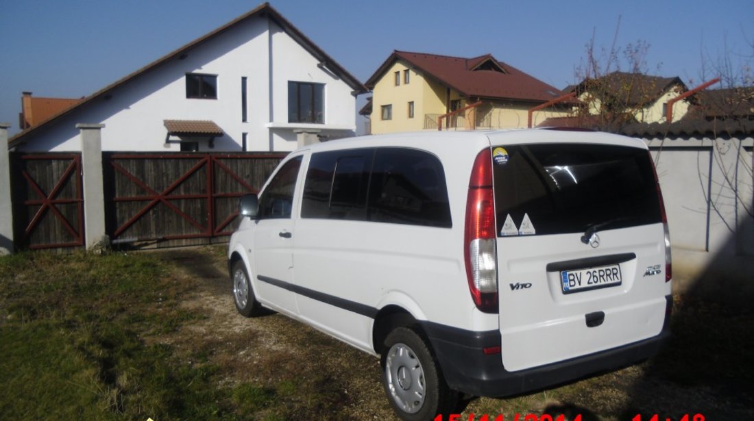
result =
M112 243L182 246L225 241L238 197L256 193L279 153L105 154L106 227Z

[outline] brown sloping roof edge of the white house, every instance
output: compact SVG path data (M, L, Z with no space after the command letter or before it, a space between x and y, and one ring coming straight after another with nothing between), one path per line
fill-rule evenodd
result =
M173 59L185 57L185 55L188 54L193 48L198 47L199 45L204 44L207 41L210 41L218 37L219 35L230 31L231 29L234 29L236 26L239 26L241 23L244 23L247 20L252 19L253 17L267 17L271 19L274 23L277 24L277 26L280 26L280 28L283 29L284 32L286 32L291 38L293 38L293 40L295 40L299 45L307 50L308 53L319 60L319 66L326 67L329 72L337 75L342 79L342 81L345 82L345 84L348 84L348 86L354 90L354 94L367 92L366 87L357 78L355 78L342 66L336 63L336 61L332 57L328 56L320 47L317 46L317 44L314 44L314 42L307 38L298 28L296 28L296 26L293 26L293 24L285 19L283 15L272 8L269 3L263 3L257 8L254 8L252 11L249 11L247 14L243 14L240 17L237 17L236 19L231 20L225 25L213 30L212 32L196 38L194 41L189 42L189 44L185 44L184 46L179 47L177 50L173 50L173 52L167 53L165 56L162 56L161 58L155 60L152 63L149 63L143 68L136 70L136 72L130 73L130 75L126 75L124 78L121 78L118 81L115 81L114 83L109 84L103 89L91 94L90 96L81 99L78 103L63 109L60 112L57 112L57 114L54 114L48 119L41 121L39 124L30 127L29 129L23 130L20 133L17 133L16 136L13 136L11 139L9 139L8 147L13 148L16 145L23 143L23 138L30 133L48 126L48 124L51 124L61 117L88 105L90 102L93 102L96 99L107 98L108 95L116 88L121 87L130 81L133 81L133 79L135 78L145 75L153 69L157 69L158 67L163 66L166 63L170 63L170 61Z

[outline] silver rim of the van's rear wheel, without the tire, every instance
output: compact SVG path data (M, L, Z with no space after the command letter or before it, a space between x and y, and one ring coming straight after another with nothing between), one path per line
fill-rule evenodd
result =
M406 413L416 413L424 404L427 385L424 369L413 349L405 343L396 343L385 359L385 374L390 395Z

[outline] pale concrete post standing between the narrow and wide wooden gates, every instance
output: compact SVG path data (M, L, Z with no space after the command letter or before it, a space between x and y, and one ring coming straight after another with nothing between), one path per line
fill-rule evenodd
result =
M81 132L81 172L84 187L84 246L87 250L109 246L105 233L105 191L102 169L104 124L76 124Z

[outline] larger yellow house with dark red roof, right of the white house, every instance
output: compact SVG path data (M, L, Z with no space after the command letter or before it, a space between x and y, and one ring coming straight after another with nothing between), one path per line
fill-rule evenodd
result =
M366 82L360 111L370 133L527 127L529 110L563 93L486 54L474 58L394 51ZM532 111L533 125L570 115L566 100Z

